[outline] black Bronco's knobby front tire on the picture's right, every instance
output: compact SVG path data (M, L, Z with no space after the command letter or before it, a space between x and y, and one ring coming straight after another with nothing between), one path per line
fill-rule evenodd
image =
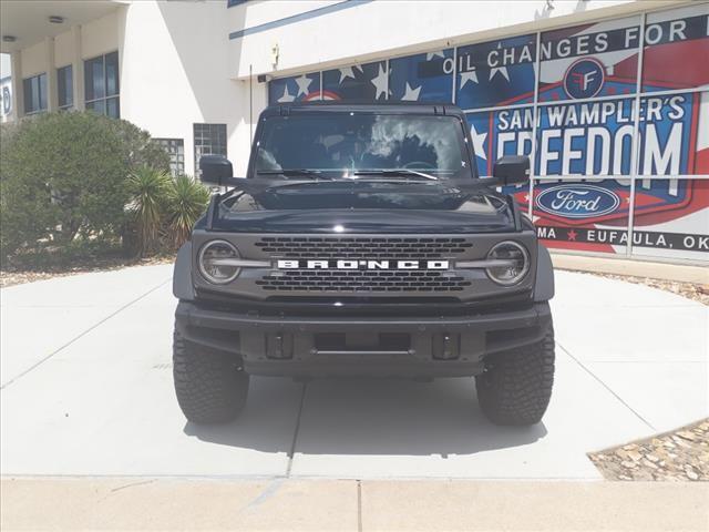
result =
M554 385L554 329L536 346L491 355L475 377L477 402L496 424L540 422Z

